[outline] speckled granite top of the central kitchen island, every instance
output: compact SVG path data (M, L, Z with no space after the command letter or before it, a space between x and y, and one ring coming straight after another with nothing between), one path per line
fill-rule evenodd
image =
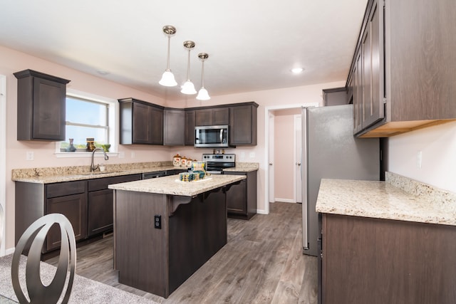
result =
M197 182L181 182L176 175L171 175L169 177L160 177L159 179L143 179L135 182L110 184L108 188L134 192L195 196L246 178L245 175L214 174Z

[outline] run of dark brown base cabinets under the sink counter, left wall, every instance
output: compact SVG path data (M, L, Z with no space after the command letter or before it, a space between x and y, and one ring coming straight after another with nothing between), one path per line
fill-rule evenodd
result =
M73 226L76 241L113 230L113 190L108 184L141 179L140 174L73 182L36 184L16 182L15 243L33 221L60 213ZM43 253L60 248L61 233L55 225L48 232Z

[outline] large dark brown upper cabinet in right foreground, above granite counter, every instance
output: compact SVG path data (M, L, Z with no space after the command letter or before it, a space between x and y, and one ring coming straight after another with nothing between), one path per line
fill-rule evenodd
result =
M456 2L369 0L348 75L353 132L390 137L456 120Z

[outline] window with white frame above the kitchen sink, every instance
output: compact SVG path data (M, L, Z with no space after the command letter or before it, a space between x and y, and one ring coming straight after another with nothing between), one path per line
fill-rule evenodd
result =
M88 140L93 138L95 147L110 144L109 152L115 152L115 108L117 100L98 96L71 93L66 95L66 140L58 142L56 152L88 152ZM70 147L70 143L73 147ZM71 155L69 155L71 154Z

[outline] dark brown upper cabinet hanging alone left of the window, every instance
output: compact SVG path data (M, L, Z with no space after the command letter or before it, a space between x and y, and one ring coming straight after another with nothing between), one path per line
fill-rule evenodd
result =
M70 80L21 70L17 78L17 140L65 140L66 84Z

